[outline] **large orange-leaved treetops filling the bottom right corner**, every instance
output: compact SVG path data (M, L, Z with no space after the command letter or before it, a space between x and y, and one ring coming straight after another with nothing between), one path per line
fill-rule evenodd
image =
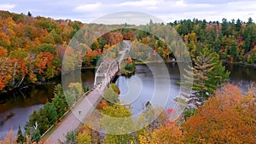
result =
M227 84L183 124L186 143L256 143L255 91Z

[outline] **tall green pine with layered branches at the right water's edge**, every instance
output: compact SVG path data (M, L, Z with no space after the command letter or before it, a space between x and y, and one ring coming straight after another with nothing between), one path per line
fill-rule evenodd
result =
M214 90L228 81L230 72L225 71L218 55L210 49L202 49L193 60L194 84L198 95L208 97Z

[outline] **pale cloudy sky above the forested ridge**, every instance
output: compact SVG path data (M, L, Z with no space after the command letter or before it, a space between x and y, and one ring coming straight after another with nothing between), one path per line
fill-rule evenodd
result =
M86 23L120 11L153 14L166 22L193 18L256 20L255 0L2 0L0 9Z

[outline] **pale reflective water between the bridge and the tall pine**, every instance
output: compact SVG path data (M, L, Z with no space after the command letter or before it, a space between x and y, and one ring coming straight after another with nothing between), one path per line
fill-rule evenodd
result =
M134 115L142 112L145 104L148 101L150 101L150 103L154 107L172 108L174 106L173 100L179 94L180 89L180 86L177 84L177 82L179 82L180 76L178 66L177 64L172 63L167 67L169 73L162 73L163 75L169 74L169 82L171 82L169 85L170 88L166 87L165 85L160 85L160 91L155 92L153 73L156 73L154 72L154 70L157 71L158 67L158 63L151 64L150 68L146 65L137 65L136 72L133 76L131 76L130 78L126 78L125 76L119 76L119 78L116 80L115 84L117 84L120 89L120 101L125 101L125 103L131 104L131 112ZM166 78L164 76L162 77ZM142 86L139 87L138 85ZM154 95L154 92L157 94ZM166 93L169 95L166 95ZM166 98L166 101L157 102L158 99L154 99L154 96L162 96L163 99Z

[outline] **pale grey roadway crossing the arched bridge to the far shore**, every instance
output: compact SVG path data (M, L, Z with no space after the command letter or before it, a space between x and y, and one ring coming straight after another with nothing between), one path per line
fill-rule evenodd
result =
M118 61L114 60L115 62L121 62L124 59L125 53L128 52L131 49L131 42L130 41L124 41L125 42L125 49L123 51L120 51L121 57ZM65 135L68 131L76 130L79 125L81 124L80 119L86 118L86 116L96 107L97 103L101 100L104 89L107 87L107 85L110 83L110 81L115 77L117 72L119 71L118 68L113 68L113 62L111 61L105 61L102 65L110 65L106 66L108 67L107 71L103 71L100 69L98 71L99 77L102 77L102 73L106 73L105 80L101 81L101 85L97 85L98 82L96 82L96 88L93 89L89 95L82 96L80 101L78 101L75 106L72 108L72 112L69 112L67 114L67 117L61 122L61 124L55 129L55 131L49 135L47 141L44 143L49 144L57 144L60 141L66 141ZM119 66L119 65L115 65ZM97 73L96 73L97 74ZM107 78L106 78L107 77ZM80 112L79 112L80 111Z

